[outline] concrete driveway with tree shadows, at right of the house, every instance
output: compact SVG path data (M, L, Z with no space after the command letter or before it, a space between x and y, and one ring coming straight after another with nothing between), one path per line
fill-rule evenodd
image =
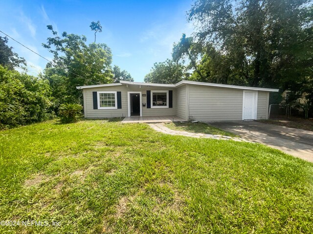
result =
M313 132L256 121L208 122L241 138L313 162Z

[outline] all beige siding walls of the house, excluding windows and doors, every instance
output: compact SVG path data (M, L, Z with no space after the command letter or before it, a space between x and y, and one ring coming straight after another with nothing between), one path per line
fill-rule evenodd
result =
M243 90L210 87L186 84L178 88L147 87L138 85L117 85L98 88L83 89L84 114L87 118L127 117L127 92L141 92L147 90L173 90L173 108L147 108L142 107L142 116L178 116L185 120L189 116L199 121L232 121L242 120ZM122 96L122 109L93 109L92 92L120 91ZM147 97L141 97L146 103ZM149 100L150 101L150 100ZM258 91L257 119L268 118L269 92Z

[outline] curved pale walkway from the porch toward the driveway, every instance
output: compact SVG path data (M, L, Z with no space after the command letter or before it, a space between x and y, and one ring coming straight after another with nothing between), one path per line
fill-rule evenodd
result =
M203 133L191 133L191 132L185 132L185 131L177 131L169 129L164 125L164 123L150 123L150 127L152 127L157 132L170 134L170 135L176 135L176 136L184 136L184 137L197 137L197 138L212 138L217 140L235 140L235 141L246 141L248 140L239 138L239 137L227 137L227 136L221 136L221 135L212 135L212 134L203 134Z

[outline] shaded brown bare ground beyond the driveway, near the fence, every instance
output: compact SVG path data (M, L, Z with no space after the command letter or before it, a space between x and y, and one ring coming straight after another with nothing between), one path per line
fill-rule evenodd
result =
M289 119L260 119L256 120L261 123L270 123L289 128L298 128L308 131L313 131L313 119L304 118L289 118Z

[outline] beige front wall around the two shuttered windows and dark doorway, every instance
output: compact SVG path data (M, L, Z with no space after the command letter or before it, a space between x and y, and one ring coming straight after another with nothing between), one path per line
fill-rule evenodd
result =
M141 92L147 94L147 90L173 90L173 108L147 108L147 97L141 97L142 103L146 103L146 107L142 107L142 116L175 116L176 114L176 90L175 88L164 87L146 87L138 85L128 87L126 85L87 88L84 91L84 113L86 118L108 118L108 117L127 117L128 116L128 97L127 92ZM93 109L92 92L120 91L122 96L122 109ZM85 104L86 103L86 104Z

